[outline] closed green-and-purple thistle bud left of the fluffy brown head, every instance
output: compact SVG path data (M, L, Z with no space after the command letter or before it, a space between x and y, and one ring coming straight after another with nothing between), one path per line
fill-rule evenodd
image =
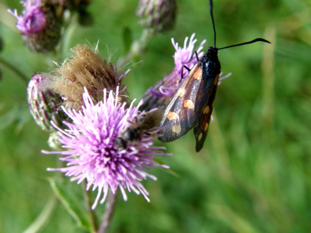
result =
M32 76L27 89L30 113L35 122L43 130L53 132L55 128L51 125L53 121L56 126L62 128L62 121L67 117L60 106L63 99L60 95L46 88L48 76L35 74Z

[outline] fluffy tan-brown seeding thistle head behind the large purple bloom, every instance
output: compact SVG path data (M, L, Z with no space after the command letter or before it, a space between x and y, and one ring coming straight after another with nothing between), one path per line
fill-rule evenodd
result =
M94 50L87 45L78 44L71 51L74 55L56 69L49 81L49 88L63 97L67 108L80 109L84 87L95 103L103 99L104 89L116 92L116 87L121 85L128 71L120 72L113 63L103 59L97 46ZM119 96L122 96L124 89L119 89Z

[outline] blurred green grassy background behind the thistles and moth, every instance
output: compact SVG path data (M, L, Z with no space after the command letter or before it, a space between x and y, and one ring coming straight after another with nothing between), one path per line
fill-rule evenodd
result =
M56 68L52 61L68 57L75 44L99 39L102 56L108 47L116 61L124 55L124 29L134 39L142 33L137 2L94 0L88 8L94 24L72 27L55 60L23 45L16 19L6 12L20 13L21 4L0 0L0 57L30 79ZM212 46L207 0L177 3L175 29L152 39L143 61L129 67L125 83L131 98L140 98L174 68L170 38L183 45L195 32L199 42L207 39L204 50ZM192 131L165 144L174 153L162 160L171 170L153 169L158 180L143 181L151 203L133 193L127 202L119 196L109 232L311 232L311 3L217 0L214 17L218 47L256 37L272 44L219 52L221 71L232 75L218 88L203 149L195 153ZM0 232L22 232L53 196L47 178L56 172L46 168L58 166L57 156L40 153L49 150L48 134L30 116L26 83L0 67ZM86 231L57 202L42 232Z

